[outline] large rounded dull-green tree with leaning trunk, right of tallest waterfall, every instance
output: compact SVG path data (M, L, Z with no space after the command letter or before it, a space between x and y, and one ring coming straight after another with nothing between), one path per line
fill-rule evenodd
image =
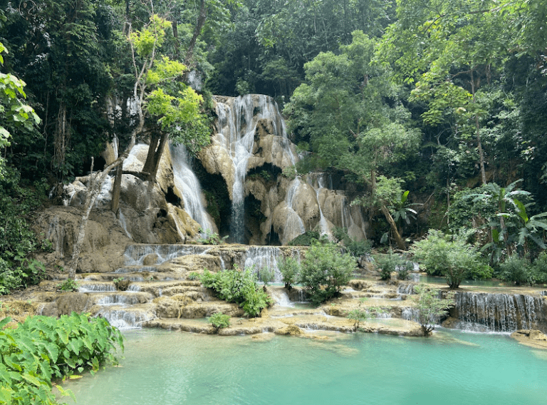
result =
M379 208L397 246L405 249L388 209L397 194L388 189L397 180L383 177L380 184L377 179L417 151L420 132L405 123L410 114L400 103L400 88L390 81L390 69L373 63L375 41L362 31L352 36L340 54L320 53L306 63L308 83L296 88L284 112L296 141L309 142L313 167L346 170L365 183L368 194L357 202Z

